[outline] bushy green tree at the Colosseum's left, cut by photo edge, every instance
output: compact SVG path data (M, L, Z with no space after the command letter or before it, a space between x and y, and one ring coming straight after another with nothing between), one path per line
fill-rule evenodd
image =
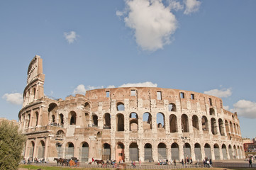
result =
M0 169L18 169L25 141L18 125L7 120L0 123Z

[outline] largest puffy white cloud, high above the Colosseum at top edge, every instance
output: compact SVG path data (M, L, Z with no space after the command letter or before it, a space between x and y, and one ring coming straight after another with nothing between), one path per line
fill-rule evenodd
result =
M170 43L177 20L161 0L127 0L126 11L126 26L134 30L135 40L143 50L159 50ZM124 13L117 11L116 15Z

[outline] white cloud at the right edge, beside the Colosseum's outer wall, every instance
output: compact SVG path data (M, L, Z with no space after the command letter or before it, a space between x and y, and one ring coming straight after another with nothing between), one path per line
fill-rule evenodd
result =
M233 109L230 109L232 112L237 112L239 116L245 118L256 118L256 102L240 100L237 103L233 104Z

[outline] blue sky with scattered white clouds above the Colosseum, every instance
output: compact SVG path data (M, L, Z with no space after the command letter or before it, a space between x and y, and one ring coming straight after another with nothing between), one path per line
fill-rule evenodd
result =
M0 1L0 117L18 120L40 55L48 96L127 84L212 94L255 137L255 16L252 0Z

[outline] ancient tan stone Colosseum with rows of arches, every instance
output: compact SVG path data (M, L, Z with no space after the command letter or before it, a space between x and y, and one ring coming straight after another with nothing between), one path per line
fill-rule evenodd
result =
M237 113L221 98L177 89L95 89L65 100L44 94L43 60L28 66L18 125L23 155L52 162L77 157L141 162L245 157Z

